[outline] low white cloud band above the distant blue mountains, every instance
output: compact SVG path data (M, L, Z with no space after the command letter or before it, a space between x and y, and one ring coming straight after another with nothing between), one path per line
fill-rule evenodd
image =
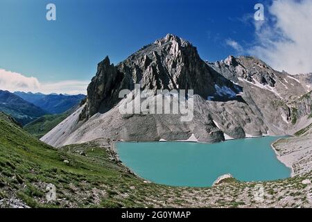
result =
M40 83L35 77L0 69L0 89L10 92L42 92L44 94L87 94L89 81L64 80L55 83Z

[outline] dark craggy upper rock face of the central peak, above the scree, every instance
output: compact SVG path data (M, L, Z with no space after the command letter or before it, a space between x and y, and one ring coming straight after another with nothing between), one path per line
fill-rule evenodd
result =
M213 96L215 100L227 101L225 88L232 99L241 91L227 78L211 69L199 56L196 47L172 34L144 46L129 58L116 65L108 57L98 64L96 76L92 78L87 92L88 101L80 119L88 119L96 112L107 112L120 101L121 89L193 89L203 98ZM219 90L220 91L220 90Z

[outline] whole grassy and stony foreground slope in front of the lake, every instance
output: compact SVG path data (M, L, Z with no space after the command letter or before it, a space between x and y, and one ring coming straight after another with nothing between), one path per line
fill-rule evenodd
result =
M311 207L305 173L274 182L229 180L211 188L155 185L116 160L110 140L55 149L0 114L0 207ZM46 200L46 187L57 199ZM256 186L257 185L257 186ZM264 197L257 200L258 186ZM256 187L255 187L256 186Z

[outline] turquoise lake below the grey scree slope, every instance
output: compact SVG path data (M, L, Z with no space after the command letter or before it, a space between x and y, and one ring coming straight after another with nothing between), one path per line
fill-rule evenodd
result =
M231 173L241 181L288 178L270 144L279 137L234 139L216 144L119 142L120 160L138 176L163 185L209 187Z

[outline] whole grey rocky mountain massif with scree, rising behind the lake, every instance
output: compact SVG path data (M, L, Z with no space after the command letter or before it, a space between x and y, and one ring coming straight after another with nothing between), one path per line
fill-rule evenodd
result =
M85 105L42 141L52 146L97 138L158 141L195 137L199 142L220 142L292 134L308 124L302 119L311 113L308 105L297 104L309 88L306 81L298 80L301 76L295 77L253 57L204 62L191 43L168 34L116 66L108 58L100 62ZM133 90L135 83L150 92L194 89L193 120L182 122L181 114L121 114L119 107L135 97L119 99L119 91ZM149 99L154 97L157 95Z

